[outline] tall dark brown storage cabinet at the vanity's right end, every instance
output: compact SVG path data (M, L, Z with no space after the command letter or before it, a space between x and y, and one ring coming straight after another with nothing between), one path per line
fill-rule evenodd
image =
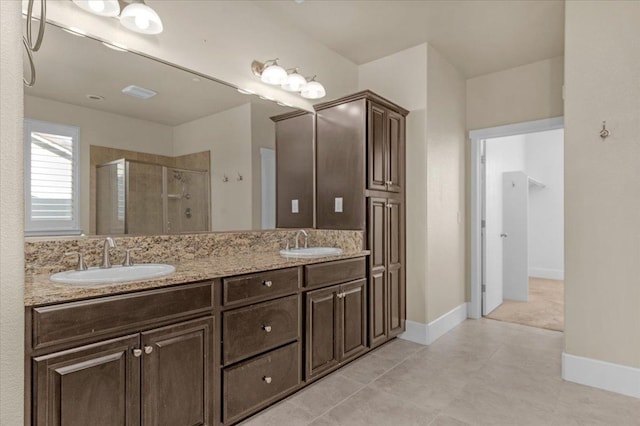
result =
M363 91L315 106L316 226L361 229L369 257L369 345L405 329L405 118Z

